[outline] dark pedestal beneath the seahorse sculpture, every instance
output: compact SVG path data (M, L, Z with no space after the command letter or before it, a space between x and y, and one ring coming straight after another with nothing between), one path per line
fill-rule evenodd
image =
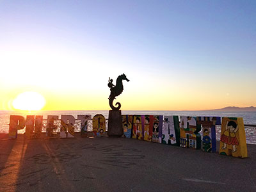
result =
M120 110L110 110L108 113L108 136L122 136L124 134L122 127L122 113Z

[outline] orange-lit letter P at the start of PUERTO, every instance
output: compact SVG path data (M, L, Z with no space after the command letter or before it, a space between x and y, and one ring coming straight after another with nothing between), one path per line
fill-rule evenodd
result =
M24 116L11 115L9 124L9 138L17 138L17 130L24 129L26 125L26 119Z

